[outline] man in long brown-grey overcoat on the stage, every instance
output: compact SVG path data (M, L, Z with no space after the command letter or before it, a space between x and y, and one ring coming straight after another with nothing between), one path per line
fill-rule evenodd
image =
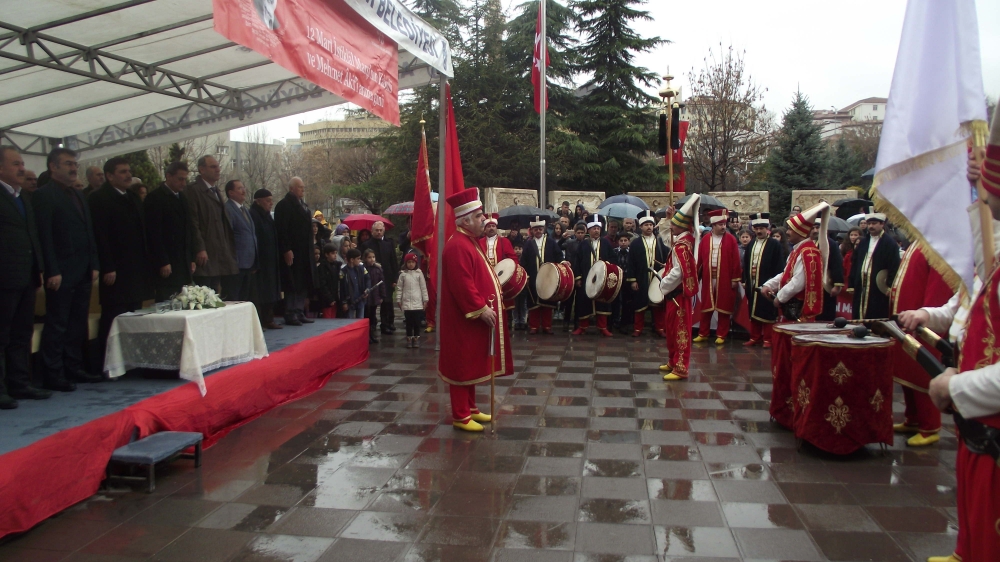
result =
M222 174L219 162L212 156L198 159L198 177L187 186L184 195L191 207L195 253L195 284L221 292L222 277L238 275L234 250L233 226L226 218L224 200L216 183ZM236 298L236 295L224 297Z

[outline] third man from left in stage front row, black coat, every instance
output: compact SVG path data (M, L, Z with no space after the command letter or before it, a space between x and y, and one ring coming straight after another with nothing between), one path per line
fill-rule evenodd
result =
M153 296L142 200L129 189L128 161L120 156L108 160L104 177L104 185L87 198L101 263L98 345L102 354L115 317L142 308L142 301Z

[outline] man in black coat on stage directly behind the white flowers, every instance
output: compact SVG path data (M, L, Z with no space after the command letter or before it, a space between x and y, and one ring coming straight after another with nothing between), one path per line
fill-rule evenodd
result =
M155 299L165 301L191 284L194 272L191 209L184 188L188 167L184 162L167 166L167 179L143 201L146 242L152 269Z

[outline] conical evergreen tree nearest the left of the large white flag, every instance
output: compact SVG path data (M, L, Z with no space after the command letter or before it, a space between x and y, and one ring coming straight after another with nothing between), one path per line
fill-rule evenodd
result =
M785 216L791 209L793 189L824 187L827 154L821 131L813 123L809 99L797 92L782 119L778 144L766 162L771 212L776 216Z

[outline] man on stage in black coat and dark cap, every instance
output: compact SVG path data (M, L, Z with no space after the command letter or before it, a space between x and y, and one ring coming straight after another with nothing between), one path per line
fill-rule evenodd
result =
M271 218L274 197L266 189L253 194L250 217L257 233L257 273L253 302L257 307L260 325L268 330L280 330L274 322L274 303L281 294L281 277L278 275L278 231Z

